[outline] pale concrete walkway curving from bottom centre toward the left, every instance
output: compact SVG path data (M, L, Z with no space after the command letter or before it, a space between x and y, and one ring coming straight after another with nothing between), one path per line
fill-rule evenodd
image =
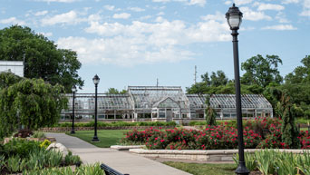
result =
M63 143L73 154L79 155L83 163L101 162L114 170L130 175L189 175L182 170L128 152L98 148L64 133L45 133L45 135Z

